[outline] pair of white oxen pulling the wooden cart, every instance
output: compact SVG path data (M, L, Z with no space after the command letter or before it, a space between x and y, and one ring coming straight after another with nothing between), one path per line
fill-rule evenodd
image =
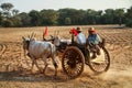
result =
M55 67L55 77L57 76L57 61L56 61L56 46L59 46L59 37L58 36L53 36L51 37L51 40L53 41L53 44L51 42L47 41L36 41L34 37L34 34L32 33L31 36L29 37L24 37L23 38L23 50L24 50L24 55L26 55L26 51L28 54L30 56L30 58L32 59L32 68L33 66L36 65L36 67L38 68L38 70L43 74L45 74L45 69L48 66L47 63L47 58L52 58L53 61L53 65ZM63 42L67 42L62 40ZM68 43L70 43L70 41L68 40ZM42 61L44 62L44 69L42 70L37 63L36 59L37 58L42 58Z

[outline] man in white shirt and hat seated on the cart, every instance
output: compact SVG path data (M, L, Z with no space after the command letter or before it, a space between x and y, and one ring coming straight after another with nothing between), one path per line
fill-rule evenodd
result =
M85 45L86 44L86 36L85 34L81 33L81 29L80 28L77 28L77 43L80 44L80 45Z

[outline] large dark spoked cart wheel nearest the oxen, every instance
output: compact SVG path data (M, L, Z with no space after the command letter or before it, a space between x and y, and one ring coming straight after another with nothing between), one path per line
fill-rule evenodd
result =
M85 57L81 51L76 46L67 47L62 58L62 66L69 78L73 79L80 76L85 66Z

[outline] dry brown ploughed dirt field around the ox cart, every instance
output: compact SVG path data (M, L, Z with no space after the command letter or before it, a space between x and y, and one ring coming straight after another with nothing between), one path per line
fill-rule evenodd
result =
M82 26L86 35L88 26ZM64 75L61 63L57 79L53 77L53 65L47 68L46 76L38 74L35 67L33 73L30 72L31 59L23 55L22 36L34 32L36 38L42 40L44 26L0 29L0 88L132 88L132 29L118 25L94 26L107 40L110 69L95 75L86 65L81 76L73 80ZM48 26L48 34L53 35L59 30L62 38L70 38L72 28ZM43 64L40 63L40 66Z

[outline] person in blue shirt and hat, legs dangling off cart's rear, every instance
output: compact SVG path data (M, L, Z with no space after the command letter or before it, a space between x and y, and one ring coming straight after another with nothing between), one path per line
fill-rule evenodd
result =
M88 40L87 40L87 43L89 44L90 48L91 48L91 52L94 53L92 54L92 57L91 58L96 58L97 55L100 55L100 46L99 46L99 43L101 43L101 38L100 36L97 34L95 28L89 28L88 29ZM94 48L96 51L94 51Z

